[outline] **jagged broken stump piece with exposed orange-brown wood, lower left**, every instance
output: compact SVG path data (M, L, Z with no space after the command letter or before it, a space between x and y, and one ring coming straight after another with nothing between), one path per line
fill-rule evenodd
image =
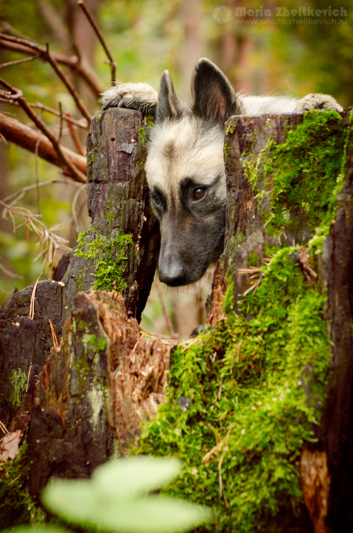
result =
M170 347L140 333L120 294L75 297L32 408L33 494L52 475L89 477L114 452L126 453L141 419L162 401Z

